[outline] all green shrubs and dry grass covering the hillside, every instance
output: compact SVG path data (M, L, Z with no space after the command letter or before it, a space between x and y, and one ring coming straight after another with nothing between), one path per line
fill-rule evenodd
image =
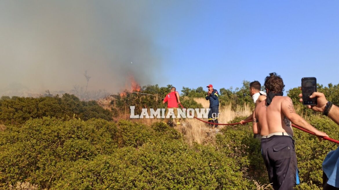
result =
M337 88L329 85L323 90L335 99ZM157 89L166 94L168 87L148 86L143 92L163 97ZM241 94L237 93L240 90L229 91L236 97L233 100L248 102L250 106L245 96L237 95ZM246 91L245 86L242 90ZM295 101L299 92L296 88L288 94ZM182 97L186 107L203 107L202 99L189 95L188 92ZM143 120L119 119L123 114L128 115L128 109L122 110L129 105L138 105L139 109L164 106L161 98L154 99L137 93L114 95L113 111L108 112L96 102L83 102L73 95L2 97L0 189L19 189L16 186L20 184L31 186L27 188L31 190L270 189L260 142L253 138L252 123L220 127L218 132L209 130L205 135L214 133L213 142L197 143L194 139L188 142L188 136L183 133L183 129L193 130L200 125L188 119L180 130L161 122L144 124ZM244 104L226 101L221 107L220 110L234 114L227 122L238 122L251 110L239 105ZM298 112L312 125L338 139L339 128L333 121L304 110L299 102L295 106L299 106ZM111 121L111 114L117 122ZM327 152L338 145L319 142L315 136L298 129L294 131L301 178L296 189L321 189L321 163Z

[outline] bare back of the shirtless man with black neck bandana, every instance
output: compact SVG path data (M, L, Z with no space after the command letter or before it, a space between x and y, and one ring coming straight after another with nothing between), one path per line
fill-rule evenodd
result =
M286 132L293 135L291 121L284 112L294 112L293 103L290 97L275 96L272 103L266 106L266 100L259 102L254 110L254 122L257 123L254 133L261 136L276 132Z

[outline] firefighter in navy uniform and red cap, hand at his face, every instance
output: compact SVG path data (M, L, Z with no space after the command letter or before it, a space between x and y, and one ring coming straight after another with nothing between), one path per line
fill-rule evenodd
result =
M219 99L218 99L218 91L213 89L213 85L207 86L208 91L206 95L206 100L210 100L210 111L208 112L208 122L218 123L219 116ZM213 124L208 124L208 126L213 127ZM218 125L215 125L218 127Z

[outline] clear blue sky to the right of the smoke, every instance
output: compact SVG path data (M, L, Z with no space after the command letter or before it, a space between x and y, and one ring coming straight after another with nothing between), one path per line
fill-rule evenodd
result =
M339 1L176 1L154 5L163 72L157 84L216 89L262 84L285 91L302 77L339 83Z

